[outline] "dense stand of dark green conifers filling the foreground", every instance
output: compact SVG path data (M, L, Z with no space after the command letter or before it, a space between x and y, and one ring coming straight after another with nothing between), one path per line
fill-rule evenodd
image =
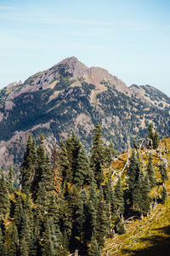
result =
M113 143L105 145L100 125L88 152L74 132L54 145L52 154L42 135L36 142L30 134L20 177L13 166L1 170L0 255L115 255L105 249L106 241L126 234L127 220L146 218L167 201L162 155L168 149L164 143L160 153L159 147L158 133L149 125L147 137L129 145L116 172L113 165L121 154Z

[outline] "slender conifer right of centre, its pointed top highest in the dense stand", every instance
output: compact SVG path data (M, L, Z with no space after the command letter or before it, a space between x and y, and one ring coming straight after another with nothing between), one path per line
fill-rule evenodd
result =
M104 148L102 140L102 131L100 125L96 125L94 129L94 140L92 146L92 154L90 164L94 171L94 177L98 186L104 182Z

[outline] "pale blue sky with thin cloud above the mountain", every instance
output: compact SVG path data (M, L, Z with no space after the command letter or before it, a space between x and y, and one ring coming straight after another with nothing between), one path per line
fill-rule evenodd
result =
M0 0L0 88L68 56L170 96L170 0Z

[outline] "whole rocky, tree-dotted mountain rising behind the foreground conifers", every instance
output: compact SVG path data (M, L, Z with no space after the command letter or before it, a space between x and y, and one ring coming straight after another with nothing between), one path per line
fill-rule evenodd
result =
M120 79L100 67L86 67L77 58L59 62L36 73L21 84L9 84L0 91L0 160L20 164L28 132L43 133L48 150L76 131L89 148L94 125L102 125L105 143L126 147L127 138L144 137L149 122L160 135L169 135L170 99L162 106L145 100L141 90L128 88ZM153 95L149 90L148 95ZM150 99L149 98L149 99Z

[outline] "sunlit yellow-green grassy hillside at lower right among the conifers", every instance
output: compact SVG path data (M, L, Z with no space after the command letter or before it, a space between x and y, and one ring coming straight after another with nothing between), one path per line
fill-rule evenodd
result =
M167 150L165 148L167 143ZM170 138L161 141L159 150L141 150L141 166L147 164L148 153L151 151L153 156L153 166L156 173L157 182L161 182L158 172L158 166L162 160L167 160L167 172L170 179ZM127 160L127 153L122 154L119 159L112 164L112 168L118 172ZM126 170L122 172L124 177L124 186L126 187ZM161 194L161 184L151 191L152 197ZM166 182L167 195L170 195L170 180ZM154 209L151 209L150 215L143 219L127 220L126 234L115 235L112 239L107 239L104 255L170 255L170 198L164 205L157 203Z

